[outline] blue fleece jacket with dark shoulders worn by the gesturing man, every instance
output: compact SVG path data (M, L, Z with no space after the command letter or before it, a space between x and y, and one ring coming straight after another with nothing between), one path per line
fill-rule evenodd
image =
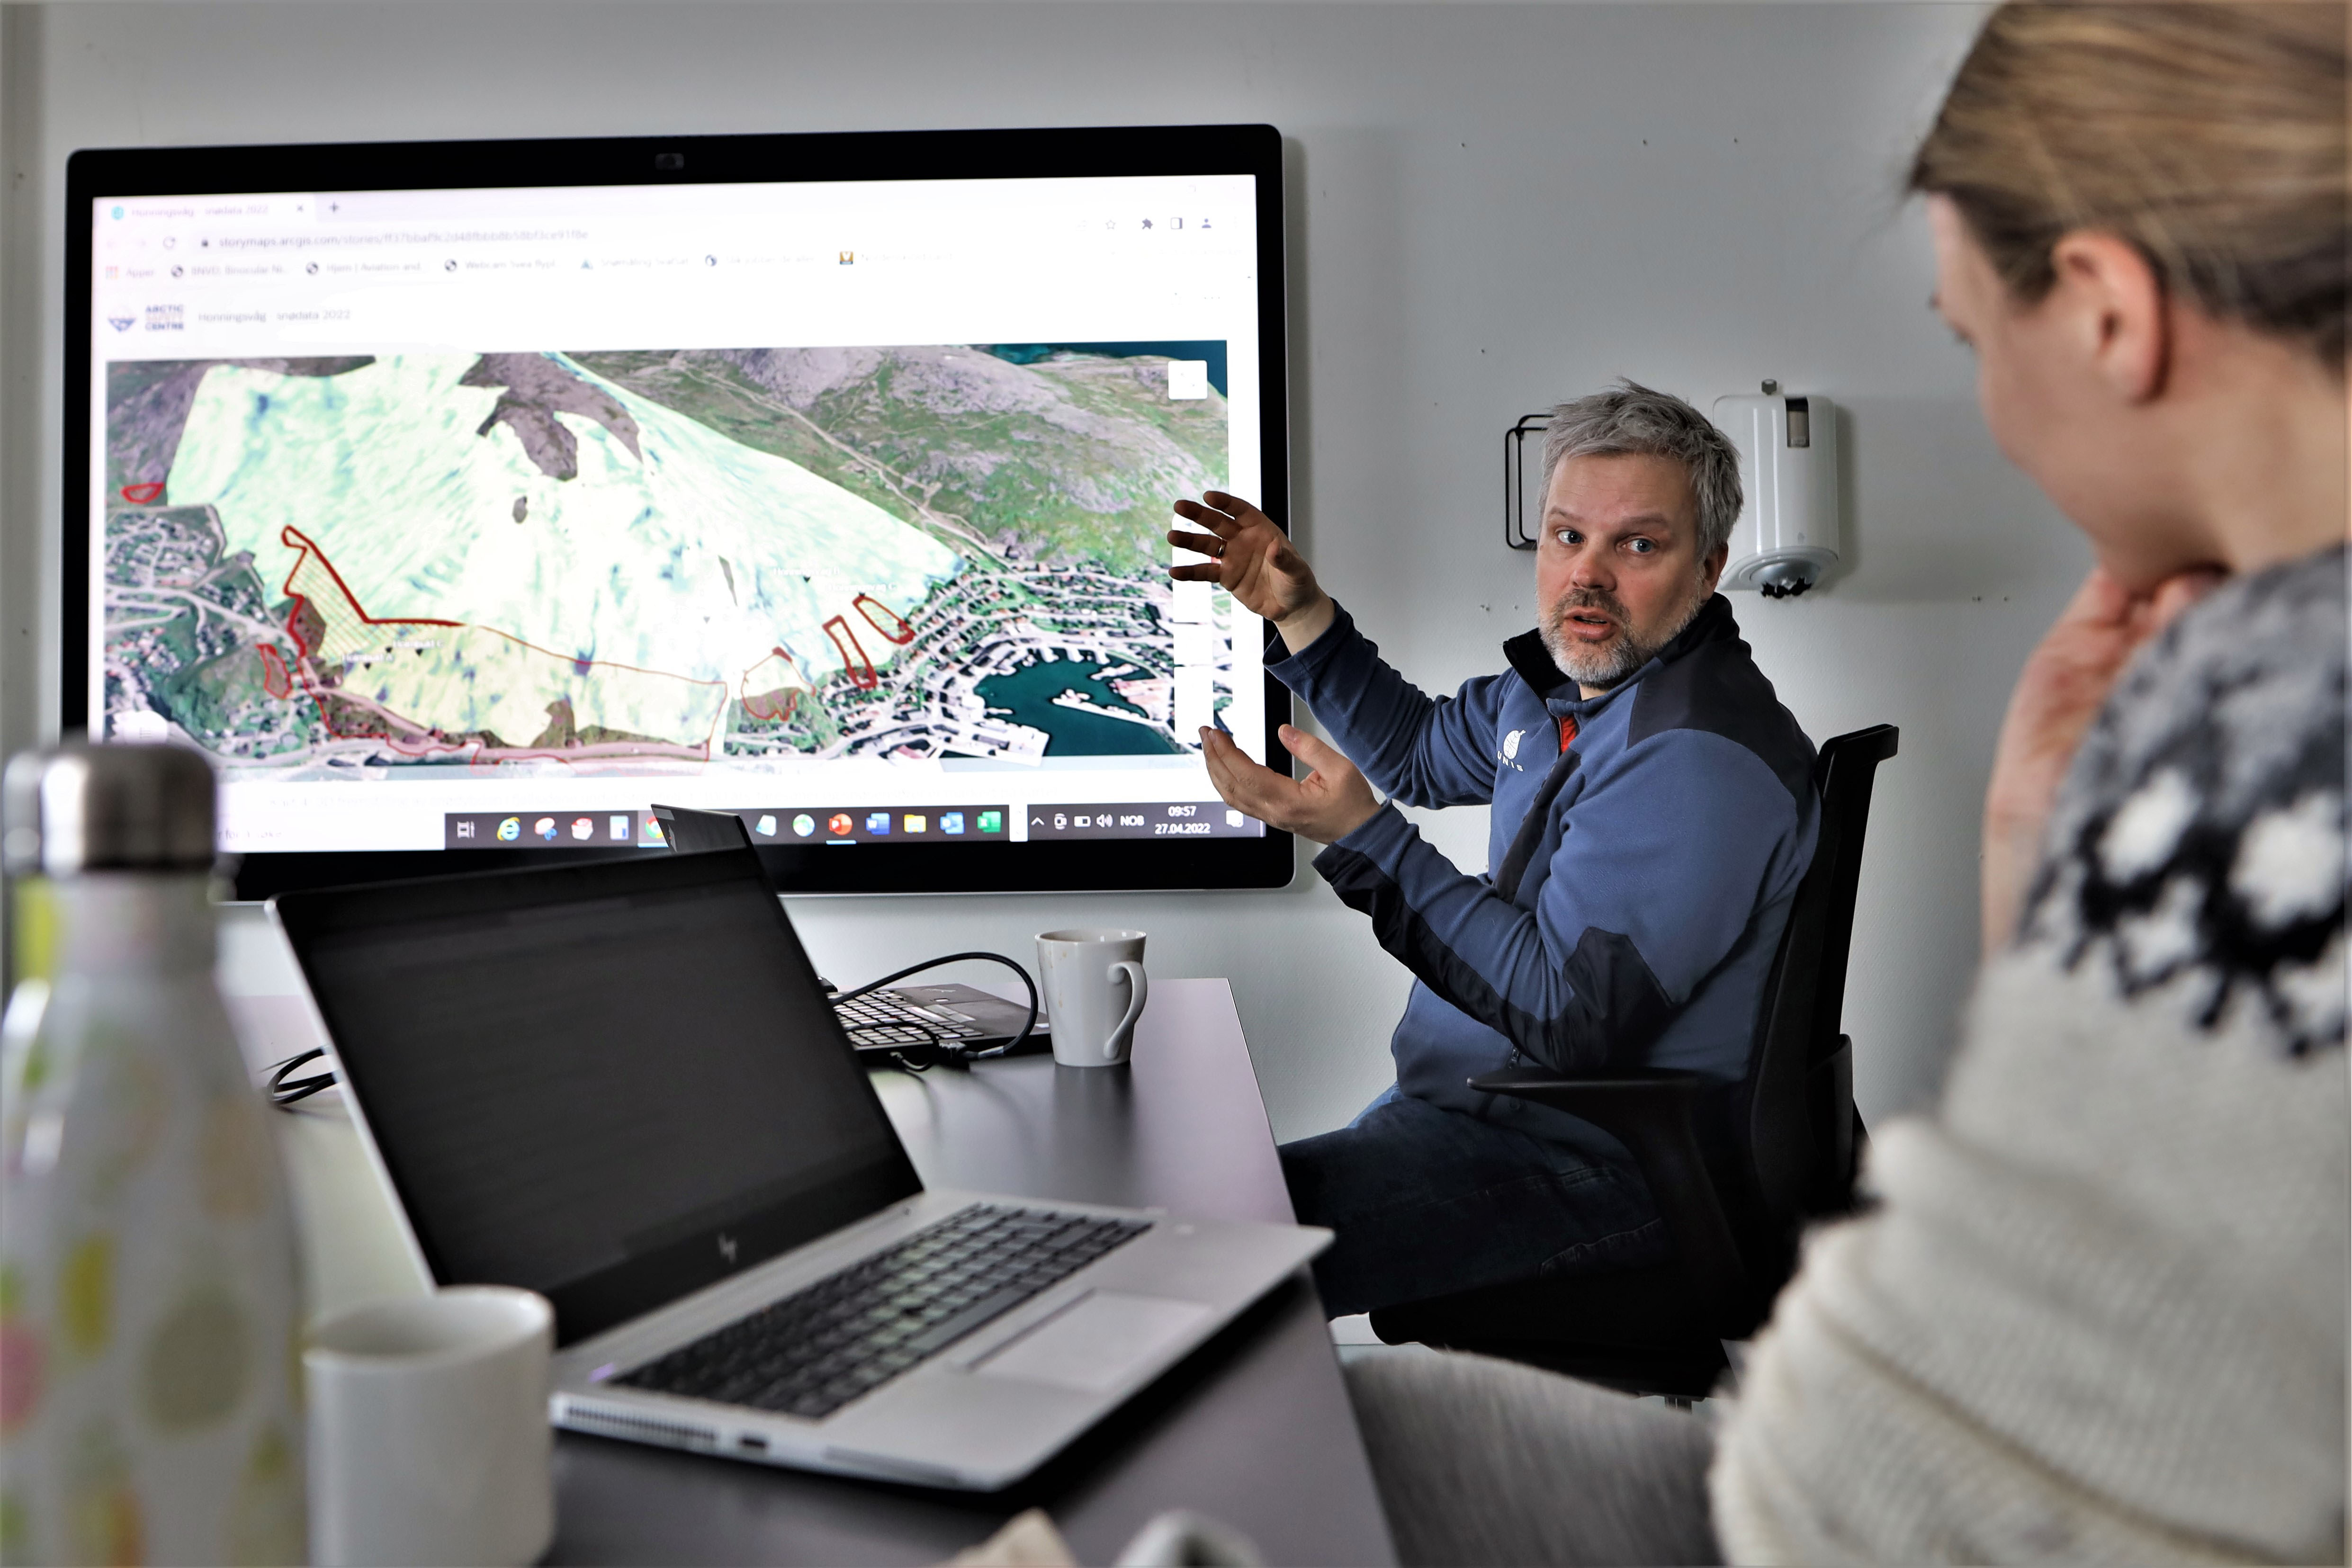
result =
M1432 698L1338 611L1270 670L1395 802L1494 804L1486 877L1456 870L1395 804L1315 860L1418 976L1390 1041L1397 1086L1613 1154L1588 1124L1468 1079L1529 1063L1740 1077L1813 860L1813 743L1722 595L1590 701L1536 632L1503 654L1510 672ZM1576 722L1566 750L1562 719Z

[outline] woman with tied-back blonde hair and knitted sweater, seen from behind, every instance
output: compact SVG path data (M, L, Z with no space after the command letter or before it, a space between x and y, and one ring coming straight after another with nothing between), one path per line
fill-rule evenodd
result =
M1406 1561L2343 1561L2345 7L2004 5L1936 308L2098 569L1985 802L1985 971L1710 1434L1350 1368Z

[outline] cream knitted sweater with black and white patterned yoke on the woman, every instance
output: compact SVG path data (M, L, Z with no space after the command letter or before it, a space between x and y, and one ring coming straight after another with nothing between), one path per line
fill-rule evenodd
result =
M1731 1561L2343 1561L2345 569L2126 670L1943 1105L1748 1361Z

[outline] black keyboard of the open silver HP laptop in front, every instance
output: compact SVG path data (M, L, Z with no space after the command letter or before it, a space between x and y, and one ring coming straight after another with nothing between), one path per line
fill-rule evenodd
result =
M1150 1220L974 1204L619 1382L816 1420L1145 1229Z

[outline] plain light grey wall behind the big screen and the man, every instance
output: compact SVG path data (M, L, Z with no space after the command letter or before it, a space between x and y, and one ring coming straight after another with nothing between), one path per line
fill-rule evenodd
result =
M1983 435L1969 362L1926 310L1917 212L1896 200L1976 7L7 9L0 127L26 172L0 235L9 743L54 724L54 701L33 712L54 675L26 646L54 602L73 148L1268 120L1296 181L1301 536L1428 686L1498 668L1531 623L1531 559L1498 538L1517 414L1618 374L1700 404L1762 376L1846 404L1851 574L1736 607L1816 738L1903 726L1846 1025L1865 1114L1933 1088L1976 959L1976 799L2002 701L2086 564ZM1484 813L1432 832L1477 865ZM1388 1081L1406 978L1308 872L1282 893L795 905L842 980L950 947L1023 954L1077 917L1150 929L1162 976L1232 976L1279 1135L1336 1126ZM254 931L235 952L245 985L282 983Z

